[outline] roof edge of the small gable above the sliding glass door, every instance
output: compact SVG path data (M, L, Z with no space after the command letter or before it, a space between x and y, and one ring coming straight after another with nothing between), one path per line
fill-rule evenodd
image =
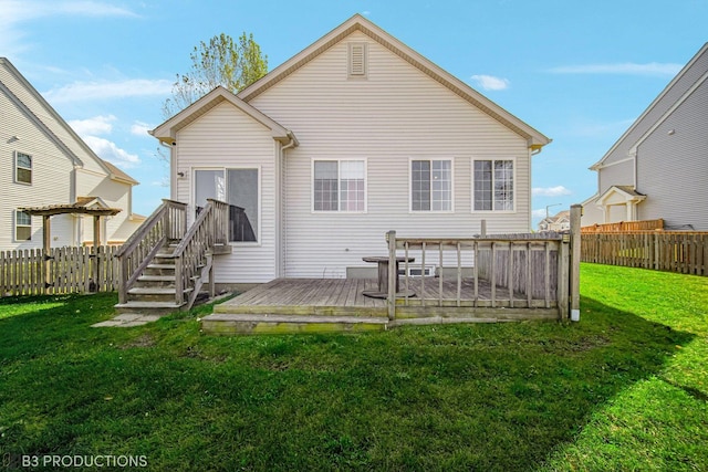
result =
M221 85L149 132L149 134L163 143L173 144L177 137L177 132L194 123L197 118L223 102L230 103L261 125L269 128L273 139L278 139L282 143L289 143L292 140L298 145L298 140L291 130L285 129L275 120L243 102Z

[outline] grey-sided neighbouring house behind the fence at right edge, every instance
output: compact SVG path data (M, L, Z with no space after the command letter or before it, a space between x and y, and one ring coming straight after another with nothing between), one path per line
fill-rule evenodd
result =
M708 231L708 43L591 169L583 225L664 219Z

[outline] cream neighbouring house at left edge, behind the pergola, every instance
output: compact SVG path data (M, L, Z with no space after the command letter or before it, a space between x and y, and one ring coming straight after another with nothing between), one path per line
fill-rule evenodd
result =
M50 206L114 208L102 243L124 242L145 220L132 212L138 182L101 159L34 87L0 57L0 250L42 248L42 218L20 210ZM51 217L52 247L93 242L93 220Z

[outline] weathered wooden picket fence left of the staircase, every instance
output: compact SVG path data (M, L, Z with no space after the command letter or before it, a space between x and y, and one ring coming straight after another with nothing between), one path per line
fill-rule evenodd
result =
M118 247L0 251L0 296L112 292L118 286ZM49 282L48 282L49 281Z

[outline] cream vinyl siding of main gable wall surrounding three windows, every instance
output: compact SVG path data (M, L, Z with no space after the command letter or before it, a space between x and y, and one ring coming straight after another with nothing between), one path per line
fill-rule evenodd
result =
M347 80L348 43L366 42L367 80ZM345 276L386 254L385 234L472 237L530 230L527 140L392 51L355 32L254 97L292 129L284 158L284 274ZM179 145L178 145L179 148ZM312 160L366 156L366 212L314 212ZM516 212L472 213L471 158L514 157ZM451 160L454 211L410 211L410 160ZM266 193L266 190L263 190Z

